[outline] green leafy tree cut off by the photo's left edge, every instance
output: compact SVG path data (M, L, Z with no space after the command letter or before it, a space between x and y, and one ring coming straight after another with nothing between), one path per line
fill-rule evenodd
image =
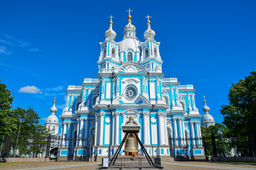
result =
M6 87L6 84L0 83L0 137L11 135L17 130L17 121L11 117L11 103L14 97Z

